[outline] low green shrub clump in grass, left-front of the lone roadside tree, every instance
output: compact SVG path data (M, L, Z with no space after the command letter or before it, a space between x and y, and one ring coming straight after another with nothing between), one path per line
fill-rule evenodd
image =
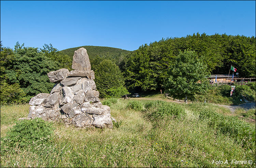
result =
M170 116L182 117L185 115L185 109L181 105L162 100L147 102L145 104L145 109L151 120L163 119Z

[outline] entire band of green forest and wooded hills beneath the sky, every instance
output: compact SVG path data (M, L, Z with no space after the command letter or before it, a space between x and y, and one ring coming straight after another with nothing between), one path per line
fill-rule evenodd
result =
M100 46L81 47L87 49L101 97L120 97L128 91L170 91L170 87L178 85L173 82L176 79L173 80L172 75L175 74L177 79L182 75L182 72L177 73L179 67L180 71L188 74L184 80L197 76L196 73L228 74L231 65L237 69L239 77L256 76L254 36L197 33L161 39L141 45L135 51ZM1 41L1 104L28 102L40 92L49 93L54 83L49 81L47 73L61 68L72 70L74 51L81 47L58 51L52 44L38 49L24 47L24 44L17 42L15 48L11 49L4 47ZM190 61L195 58L200 60L199 64ZM183 66L178 66L181 63ZM193 68L199 65L204 67L204 72L199 71L200 67Z

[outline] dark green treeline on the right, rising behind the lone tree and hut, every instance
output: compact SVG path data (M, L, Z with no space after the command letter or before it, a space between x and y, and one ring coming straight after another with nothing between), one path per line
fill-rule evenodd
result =
M127 56L121 68L126 86L133 91L163 88L167 71L180 52L195 51L211 74L228 74L230 66L239 77L255 77L255 37L226 34L193 34L182 38L167 38L142 45Z

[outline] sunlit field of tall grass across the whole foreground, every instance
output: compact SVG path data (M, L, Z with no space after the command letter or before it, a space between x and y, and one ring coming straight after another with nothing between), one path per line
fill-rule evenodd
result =
M255 109L231 114L216 105L175 103L162 95L102 103L117 120L113 129L52 122L47 141L23 146L6 139L29 105L1 106L1 167L255 167L255 119L248 119L255 118Z

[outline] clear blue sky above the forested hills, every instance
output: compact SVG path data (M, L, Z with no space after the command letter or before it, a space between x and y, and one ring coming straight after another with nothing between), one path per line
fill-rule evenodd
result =
M2 1L3 46L137 50L199 32L255 37L256 1Z

